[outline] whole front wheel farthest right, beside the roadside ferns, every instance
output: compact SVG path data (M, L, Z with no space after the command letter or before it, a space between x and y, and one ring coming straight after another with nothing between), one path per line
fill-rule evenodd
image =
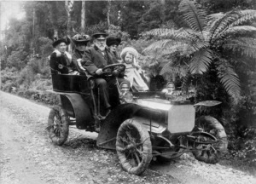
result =
M195 129L193 131L198 130L213 135L216 140L211 136L199 135L197 137L197 143L195 142L196 150L193 151L195 158L208 164L216 164L219 154L226 152L228 147L224 127L216 118L202 116L195 121ZM208 144L211 141L212 144ZM203 144L203 142L207 142L207 144Z

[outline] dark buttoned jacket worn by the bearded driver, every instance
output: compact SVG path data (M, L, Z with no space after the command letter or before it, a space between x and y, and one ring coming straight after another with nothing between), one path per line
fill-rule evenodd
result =
M91 75L95 75L96 70L99 68L115 63L113 55L107 48L104 50L104 53L105 55L102 55L102 50L96 46L85 50L81 63Z

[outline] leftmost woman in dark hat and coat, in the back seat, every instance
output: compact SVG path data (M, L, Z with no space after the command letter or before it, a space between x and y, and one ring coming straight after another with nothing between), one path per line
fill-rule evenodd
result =
M69 39L56 39L52 44L55 50L49 56L49 66L52 73L76 75L78 72L73 71L71 55L66 51Z

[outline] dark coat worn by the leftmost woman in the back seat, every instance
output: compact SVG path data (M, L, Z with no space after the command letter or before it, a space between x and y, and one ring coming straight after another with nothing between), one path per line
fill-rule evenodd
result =
M59 52L58 54L54 51L50 55L49 66L52 73L63 73L67 74L73 72L71 55L65 55Z

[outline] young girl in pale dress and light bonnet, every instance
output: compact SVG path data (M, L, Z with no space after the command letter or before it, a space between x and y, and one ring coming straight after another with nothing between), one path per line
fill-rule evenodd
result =
M148 90L147 83L143 80L143 70L137 64L137 50L131 47L126 47L121 54L122 63L125 64L125 79L131 83L131 89L136 91Z

